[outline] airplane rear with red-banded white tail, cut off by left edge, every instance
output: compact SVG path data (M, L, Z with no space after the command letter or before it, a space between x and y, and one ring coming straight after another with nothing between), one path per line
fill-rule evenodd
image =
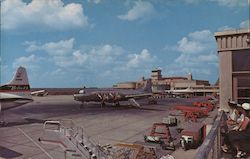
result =
M19 67L13 79L0 86L0 112L32 101L26 69Z

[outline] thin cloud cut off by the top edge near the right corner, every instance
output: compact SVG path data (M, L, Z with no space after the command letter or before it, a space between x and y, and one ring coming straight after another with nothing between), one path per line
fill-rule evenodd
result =
M210 0L212 2L217 2L221 6L226 7L244 7L247 5L247 1L244 0Z

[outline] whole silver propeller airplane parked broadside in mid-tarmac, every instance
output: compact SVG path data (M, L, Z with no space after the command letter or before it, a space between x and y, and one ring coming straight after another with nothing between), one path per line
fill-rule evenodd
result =
M137 90L126 89L98 89L96 91L80 90L74 94L74 100L84 103L98 102L101 106L105 103L112 103L119 106L121 101L129 101L132 106L141 107L135 99L147 98L152 96L151 81L147 80L143 88Z

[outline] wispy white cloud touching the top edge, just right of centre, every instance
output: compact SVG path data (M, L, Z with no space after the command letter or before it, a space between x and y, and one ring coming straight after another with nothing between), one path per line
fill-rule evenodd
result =
M147 1L136 1L135 5L123 15L117 16L121 20L135 21L151 18L155 13L154 6Z

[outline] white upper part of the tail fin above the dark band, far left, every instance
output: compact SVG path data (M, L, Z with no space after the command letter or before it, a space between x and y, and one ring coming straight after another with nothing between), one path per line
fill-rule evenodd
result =
M24 67L19 67L8 85L22 85L29 86L28 75Z

